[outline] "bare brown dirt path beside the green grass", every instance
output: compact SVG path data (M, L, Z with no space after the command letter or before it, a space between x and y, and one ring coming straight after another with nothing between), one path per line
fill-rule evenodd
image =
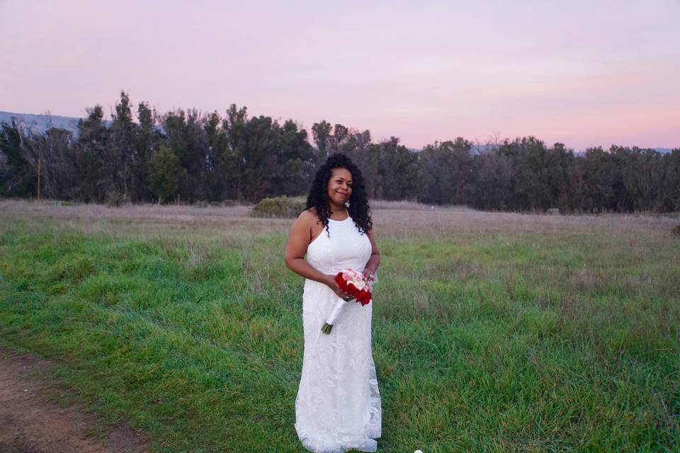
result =
M142 453L148 440L105 426L79 406L50 401L50 362L0 348L0 453ZM95 435L94 432L97 432Z

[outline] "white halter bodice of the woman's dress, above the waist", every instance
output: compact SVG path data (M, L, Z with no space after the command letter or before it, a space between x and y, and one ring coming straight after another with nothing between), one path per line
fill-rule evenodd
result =
M328 219L328 231L324 228L307 246L307 263L324 274L336 274L347 268L362 272L370 252L368 235L359 232L351 217Z

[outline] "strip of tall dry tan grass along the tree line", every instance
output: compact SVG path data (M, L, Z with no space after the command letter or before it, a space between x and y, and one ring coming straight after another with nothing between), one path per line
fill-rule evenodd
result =
M128 205L106 207L83 204L59 206L50 202L1 200L0 215L60 219L87 231L286 231L292 219L249 217L250 206L194 207L188 205ZM458 234L533 234L591 232L601 234L647 234L671 237L677 219L650 214L543 215L484 212L467 207L431 207L415 202L371 202L376 235L433 236Z

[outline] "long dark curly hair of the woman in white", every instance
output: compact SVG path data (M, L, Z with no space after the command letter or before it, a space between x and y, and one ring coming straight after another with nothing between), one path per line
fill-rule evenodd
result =
M352 173L352 195L349 197L349 207L347 211L353 219L354 224L361 234L373 228L373 221L370 219L370 208L368 207L368 197L363 183L361 170L351 159L342 153L335 153L329 156L314 176L314 182L310 188L310 195L307 195L307 207L314 207L317 210L319 221L326 228L326 234L331 237L328 229L328 219L331 216L331 207L328 202L328 180L332 176L333 168L345 168Z

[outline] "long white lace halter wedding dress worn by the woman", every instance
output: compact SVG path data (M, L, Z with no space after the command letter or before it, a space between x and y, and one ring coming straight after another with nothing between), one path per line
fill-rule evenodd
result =
M359 233L351 217L329 219L328 229L308 246L307 262L324 274L346 268L363 271L371 252L368 236ZM310 452L375 452L381 409L370 348L373 302L366 306L347 303L326 335L321 328L337 299L326 285L305 281L305 354L295 401L295 429Z

